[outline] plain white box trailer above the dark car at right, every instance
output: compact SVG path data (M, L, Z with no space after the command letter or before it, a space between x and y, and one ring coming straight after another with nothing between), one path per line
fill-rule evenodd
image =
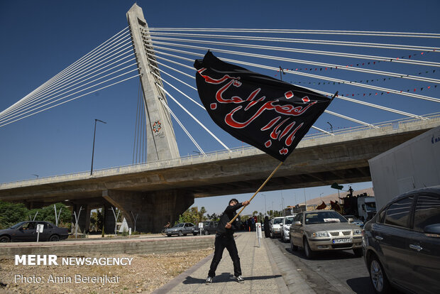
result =
M440 126L368 160L377 209L393 197L440 185Z

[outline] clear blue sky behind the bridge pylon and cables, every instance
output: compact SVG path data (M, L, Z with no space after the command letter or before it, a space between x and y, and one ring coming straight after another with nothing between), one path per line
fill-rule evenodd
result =
M191 28L298 28L356 31L400 31L439 33L440 2L431 1L137 1L143 8L148 25L155 27ZM0 2L0 111L6 109L57 72L75 62L104 40L127 26L126 11L131 1L1 1ZM308 36L309 37L309 36ZM299 36L298 38L307 38ZM319 36L319 38L323 38ZM331 38L331 37L326 37ZM341 37L335 37L341 38ZM359 40L362 40L359 38ZM368 39L371 42L386 40ZM406 43L439 47L439 40L408 40ZM360 53L369 53L363 49ZM380 51L374 54L380 54ZM401 53L397 53L400 55ZM402 53L405 55L412 53ZM435 53L434 53L435 54ZM439 61L431 53L427 59ZM297 56L294 56L297 58ZM327 57L316 57L323 62L334 62ZM281 64L280 64L281 65ZM274 65L277 66L277 65ZM291 65L283 65L290 68ZM400 70L400 66L393 68ZM419 71L414 68L413 72ZM439 71L429 74L438 78ZM270 73L275 75L275 73ZM342 77L349 79L349 75ZM294 77L287 81L302 82ZM391 81L381 87L423 87L417 82L397 84ZM312 87L312 86L309 86ZM336 87L322 88L334 92ZM92 156L94 119L107 124L97 126L94 168L110 168L132 163L133 134L138 97L136 79L104 89L87 97L55 107L49 111L0 128L0 183L49 175L77 173L89 170ZM345 91L345 89L344 89ZM355 89L358 94L371 92ZM428 94L428 93L424 93ZM429 94L439 97L439 91ZM195 96L197 99L197 95ZM389 100L389 101L388 101ZM416 114L440 111L436 104L400 102L388 99L388 107L399 105L401 110ZM343 107L340 102L332 105ZM335 110L330 109L330 110ZM390 114L375 114L368 109L346 109L346 113L368 122L400 119ZM202 114L200 114L202 115ZM185 119L184 119L185 121ZM329 129L324 118L317 124ZM334 128L347 127L334 119ZM191 126L189 121L187 122ZM210 124L207 122L207 124ZM215 129L215 126L212 126ZM177 126L175 126L177 128ZM189 128L191 129L191 128ZM200 136L205 151L221 150L215 141ZM242 143L221 134L230 147ZM182 131L177 131L181 156L194 154ZM370 187L371 183L352 183L355 190ZM258 187L255 187L255 190ZM333 193L329 187L305 190L307 198L321 193ZM286 190L265 192L266 207L279 209L281 198L286 205L304 201L304 191ZM249 195L238 195L245 200ZM205 206L209 213L220 212L231 196L196 200L194 205ZM300 199L302 198L302 199ZM274 202L274 205L272 205ZM255 208L254 208L255 207ZM261 211L264 197L255 197L246 211ZM246 213L245 211L245 213Z

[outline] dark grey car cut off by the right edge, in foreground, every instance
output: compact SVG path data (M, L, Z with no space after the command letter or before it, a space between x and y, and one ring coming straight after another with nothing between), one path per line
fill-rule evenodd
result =
M376 293L440 293L440 186L395 197L363 229Z

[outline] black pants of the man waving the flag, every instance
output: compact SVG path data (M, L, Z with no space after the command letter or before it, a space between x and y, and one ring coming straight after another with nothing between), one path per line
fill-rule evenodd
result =
M214 258L211 261L211 267L209 268L208 276L215 277L216 269L219 266L221 261L221 256L223 256L224 249L228 249L229 256L231 256L233 262L233 276L241 276L241 266L240 266L240 257L238 257L238 250L236 246L236 241L233 239L233 236L223 236L216 235L215 240L215 250L214 250Z

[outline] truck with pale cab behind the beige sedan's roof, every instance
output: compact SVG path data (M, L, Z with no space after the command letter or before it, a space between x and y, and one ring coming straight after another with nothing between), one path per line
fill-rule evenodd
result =
M343 200L343 214L354 215L361 221L366 222L376 214L375 197L368 196L367 193L356 196L346 196Z

